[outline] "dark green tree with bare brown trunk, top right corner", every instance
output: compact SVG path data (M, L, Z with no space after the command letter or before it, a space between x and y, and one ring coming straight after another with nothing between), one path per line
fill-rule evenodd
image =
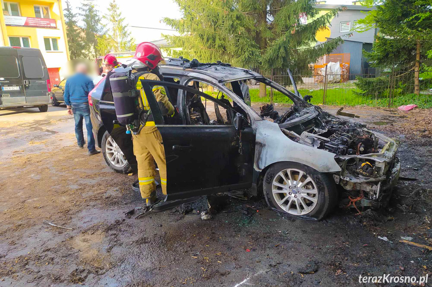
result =
M432 49L430 0L369 0L377 9L363 20L379 29L372 52L366 56L374 66L414 70L414 93L420 93L420 64Z

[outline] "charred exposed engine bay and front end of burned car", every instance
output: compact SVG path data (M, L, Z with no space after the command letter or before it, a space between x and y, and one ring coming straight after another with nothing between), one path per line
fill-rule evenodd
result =
M342 205L387 204L400 169L395 156L397 144L392 139L307 103L293 105L282 115L273 105L265 104L260 115L279 124L292 141L335 155L341 171L334 173L333 179L343 188Z

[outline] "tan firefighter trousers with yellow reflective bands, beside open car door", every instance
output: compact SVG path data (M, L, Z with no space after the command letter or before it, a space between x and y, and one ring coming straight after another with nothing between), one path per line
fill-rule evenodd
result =
M151 128L150 130L148 128ZM138 180L143 199L156 195L155 161L161 177L162 193L167 194L167 162L161 133L155 127L144 127L133 135L134 154L138 162Z

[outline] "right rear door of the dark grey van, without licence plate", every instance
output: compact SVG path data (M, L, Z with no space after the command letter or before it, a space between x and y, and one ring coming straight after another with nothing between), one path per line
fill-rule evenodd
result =
M47 85L49 74L41 51L36 49L19 49L18 55L23 71L26 102L29 105L50 103Z

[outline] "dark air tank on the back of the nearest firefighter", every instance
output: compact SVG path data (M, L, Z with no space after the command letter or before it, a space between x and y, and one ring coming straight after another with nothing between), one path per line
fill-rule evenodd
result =
M114 72L109 78L117 120L126 126L127 134L131 134L131 131L136 133L140 121L137 110L139 93L135 88L135 81L125 72Z

